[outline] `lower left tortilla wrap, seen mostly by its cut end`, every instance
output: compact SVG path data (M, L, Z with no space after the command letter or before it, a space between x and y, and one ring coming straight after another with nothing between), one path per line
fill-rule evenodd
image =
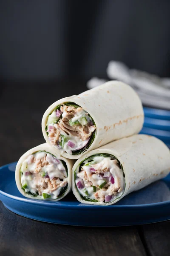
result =
M71 190L73 164L73 160L57 155L47 143L38 145L17 163L17 188L27 198L58 201Z

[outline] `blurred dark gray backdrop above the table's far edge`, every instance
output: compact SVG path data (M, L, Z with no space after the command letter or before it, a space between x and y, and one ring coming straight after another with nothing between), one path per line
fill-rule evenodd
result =
M106 77L110 60L170 76L169 0L1 0L0 76Z

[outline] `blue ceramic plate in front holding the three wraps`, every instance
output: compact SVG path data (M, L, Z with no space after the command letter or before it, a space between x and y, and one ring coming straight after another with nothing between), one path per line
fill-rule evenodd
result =
M24 217L94 227L127 226L170 219L170 175L105 207L81 204L72 193L54 202L25 198L15 184L15 166L16 163L10 163L0 167L0 200L6 208Z

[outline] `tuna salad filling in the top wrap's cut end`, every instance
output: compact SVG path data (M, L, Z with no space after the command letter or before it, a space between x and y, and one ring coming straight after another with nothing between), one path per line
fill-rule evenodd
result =
M48 116L45 129L52 145L68 154L80 154L93 143L96 125L79 105L65 103Z

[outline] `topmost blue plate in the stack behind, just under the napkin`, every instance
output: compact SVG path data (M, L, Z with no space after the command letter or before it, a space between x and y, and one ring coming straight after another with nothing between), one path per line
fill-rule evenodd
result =
M157 108L144 108L144 115L151 118L170 120L170 111Z

